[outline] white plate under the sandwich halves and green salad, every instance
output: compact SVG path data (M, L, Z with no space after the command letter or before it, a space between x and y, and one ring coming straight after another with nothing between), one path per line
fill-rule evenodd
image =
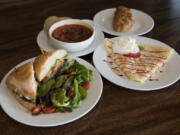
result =
M88 90L88 96L82 102L82 106L80 108L74 109L72 113L53 113L48 115L41 114L38 116L32 116L31 112L28 112L22 105L17 102L11 91L5 85L5 80L9 73L14 70L13 68L3 78L0 85L0 103L3 110L11 118L20 123L38 127L51 127L66 124L87 114L99 101L103 90L103 83L101 76L90 63L80 58L75 59L81 64L85 65L87 68L91 69L94 75L94 79L92 80L91 86ZM16 67L29 61L33 61L33 58L18 64Z

